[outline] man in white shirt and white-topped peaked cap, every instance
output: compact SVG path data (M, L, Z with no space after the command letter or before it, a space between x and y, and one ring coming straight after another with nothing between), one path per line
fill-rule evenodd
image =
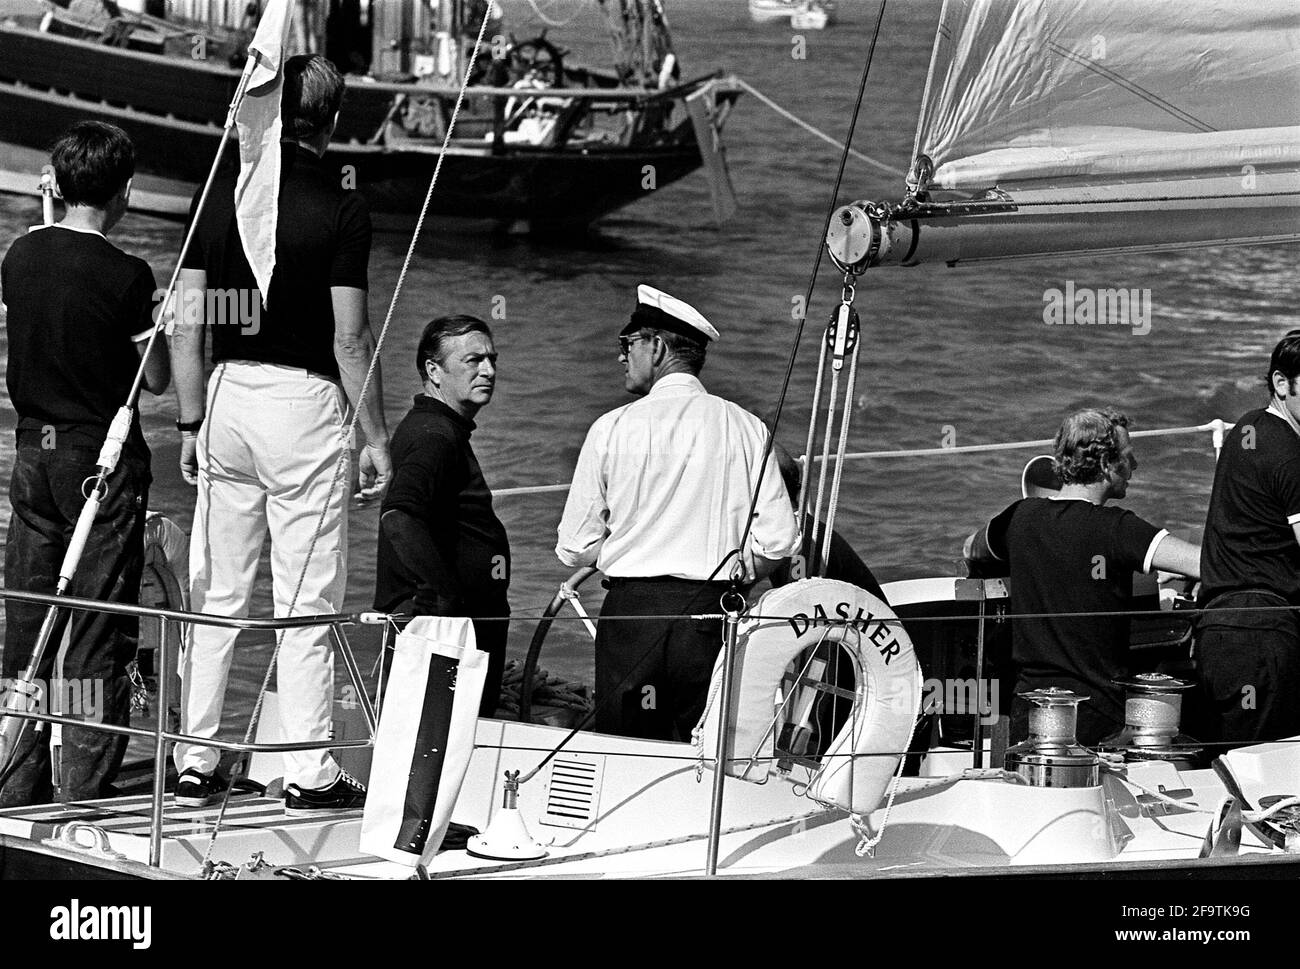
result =
M737 550L740 579L753 583L798 548L775 457L759 479L767 428L699 382L716 338L694 307L638 286L619 359L624 386L641 399L592 425L573 471L555 554L607 576L595 636L602 732L689 739L722 623L688 617L720 610Z

